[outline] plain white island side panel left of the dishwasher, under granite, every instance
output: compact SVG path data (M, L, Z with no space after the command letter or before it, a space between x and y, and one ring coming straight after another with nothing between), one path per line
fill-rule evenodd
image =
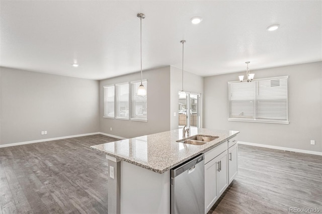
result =
M121 162L121 213L170 213L170 170L159 174Z

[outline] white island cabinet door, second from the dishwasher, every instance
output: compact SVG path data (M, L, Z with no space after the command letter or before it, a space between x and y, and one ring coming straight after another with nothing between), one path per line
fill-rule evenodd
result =
M227 152L220 154L215 158L218 162L219 170L217 170L217 195L220 196L228 186L227 173Z

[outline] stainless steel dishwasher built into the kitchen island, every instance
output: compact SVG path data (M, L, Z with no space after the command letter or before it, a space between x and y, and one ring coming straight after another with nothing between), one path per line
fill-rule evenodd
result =
M170 170L171 214L205 213L204 162L201 154Z

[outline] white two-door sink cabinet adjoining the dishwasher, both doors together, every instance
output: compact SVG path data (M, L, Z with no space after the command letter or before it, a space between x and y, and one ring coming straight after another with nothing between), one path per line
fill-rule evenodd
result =
M205 165L205 212L216 202L228 186L227 181L227 152L209 161Z

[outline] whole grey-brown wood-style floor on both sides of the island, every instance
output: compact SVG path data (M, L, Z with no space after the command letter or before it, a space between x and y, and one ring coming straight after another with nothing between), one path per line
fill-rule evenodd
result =
M107 213L103 135L0 148L0 214ZM238 175L212 213L322 212L322 157L238 145ZM306 212L308 213L308 212Z

